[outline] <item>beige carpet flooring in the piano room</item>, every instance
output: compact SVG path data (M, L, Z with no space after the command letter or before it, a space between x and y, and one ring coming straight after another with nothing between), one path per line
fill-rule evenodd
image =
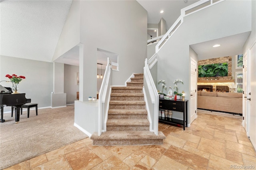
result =
M0 170L88 136L74 127L74 105L23 111L15 124L11 113L0 123Z

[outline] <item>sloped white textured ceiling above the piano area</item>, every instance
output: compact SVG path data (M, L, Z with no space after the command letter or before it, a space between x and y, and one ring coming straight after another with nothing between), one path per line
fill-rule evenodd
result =
M52 61L72 0L1 0L1 55Z

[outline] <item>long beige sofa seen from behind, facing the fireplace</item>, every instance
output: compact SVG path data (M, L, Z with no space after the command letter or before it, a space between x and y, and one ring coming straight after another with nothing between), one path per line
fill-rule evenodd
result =
M242 93L198 91L197 108L242 114Z

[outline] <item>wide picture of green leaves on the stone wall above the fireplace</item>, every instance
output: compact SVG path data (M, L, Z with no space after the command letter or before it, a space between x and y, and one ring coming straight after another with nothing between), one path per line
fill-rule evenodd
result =
M198 77L228 76L228 63L206 64L198 66Z

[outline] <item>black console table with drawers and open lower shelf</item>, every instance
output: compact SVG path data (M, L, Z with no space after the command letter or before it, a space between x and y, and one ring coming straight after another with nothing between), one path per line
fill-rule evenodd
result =
M183 113L183 120L173 119L165 117L159 117L158 121L166 124L182 125L183 130L188 127L188 100L170 100L170 99L159 99L159 109L178 111Z

